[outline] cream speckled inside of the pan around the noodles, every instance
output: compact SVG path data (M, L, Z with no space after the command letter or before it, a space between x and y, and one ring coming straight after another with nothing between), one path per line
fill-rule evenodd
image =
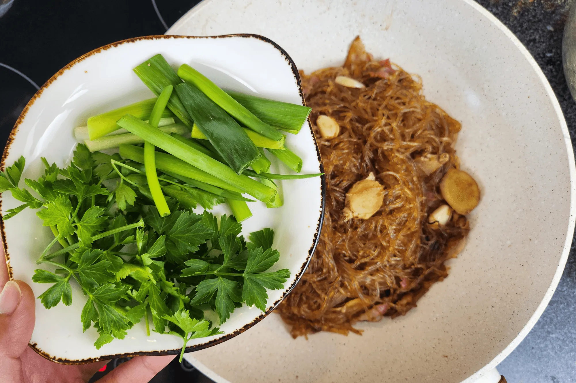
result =
M270 315L188 355L218 382L473 382L532 328L562 273L574 229L574 159L540 69L500 22L468 0L206 0L169 33L251 32L306 72L369 52L423 78L463 130L463 168L482 188L464 252L405 317L362 336L292 339Z

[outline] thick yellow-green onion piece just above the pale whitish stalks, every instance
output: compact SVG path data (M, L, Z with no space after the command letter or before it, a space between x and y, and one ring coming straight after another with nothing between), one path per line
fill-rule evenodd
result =
M146 120L150 116L155 102L156 98L145 99L144 101L138 101L134 104L122 106L122 108L110 110L109 112L88 118L88 138L94 140L119 129L120 127L116 124L116 121L126 113ZM165 110L164 113L162 113L162 117L170 116L172 116L172 113L170 113L169 110Z

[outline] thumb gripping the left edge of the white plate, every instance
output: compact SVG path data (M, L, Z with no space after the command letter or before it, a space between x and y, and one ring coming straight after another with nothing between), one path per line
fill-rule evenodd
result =
M30 286L8 281L0 292L0 359L18 358L32 337L36 301Z

